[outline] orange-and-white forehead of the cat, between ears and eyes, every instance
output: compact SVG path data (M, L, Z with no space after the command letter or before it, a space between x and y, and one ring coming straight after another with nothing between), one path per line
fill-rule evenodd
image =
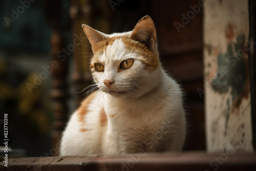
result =
M145 45L138 41L131 39L129 35L108 37L101 41L98 47L91 68L94 68L94 63L112 63L115 60L124 60L129 55L135 56L137 60L144 63L144 68L149 72L154 72L159 67L158 54L148 50Z

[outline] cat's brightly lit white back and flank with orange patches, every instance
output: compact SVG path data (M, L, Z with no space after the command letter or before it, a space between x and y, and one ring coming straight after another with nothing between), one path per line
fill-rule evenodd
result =
M93 92L71 115L62 135L60 155L100 154L102 129L106 114L101 93Z

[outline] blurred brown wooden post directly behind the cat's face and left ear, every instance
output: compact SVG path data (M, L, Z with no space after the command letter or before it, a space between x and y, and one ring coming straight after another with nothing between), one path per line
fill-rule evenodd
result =
M72 74L72 81L74 83L75 92L81 92L84 88L89 86L91 81L91 72L89 69L90 57L92 50L90 42L86 34L82 30L82 24L92 26L91 22L92 7L90 1L71 1L70 16L72 18L72 32L73 39L80 37L79 46L76 46L73 52L74 71ZM82 96L85 92L75 94L75 108L80 105L83 100Z

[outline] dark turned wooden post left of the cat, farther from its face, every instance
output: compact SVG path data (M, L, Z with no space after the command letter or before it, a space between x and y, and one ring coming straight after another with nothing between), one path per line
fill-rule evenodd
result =
M61 2L44 1L44 11L48 24L52 28L51 37L51 55L50 66L52 67L52 91L50 93L54 103L54 130L52 134L52 149L50 155L57 156L61 134L67 122L68 105L68 57L60 56L62 48L65 48L64 38L62 36L62 27L60 26Z

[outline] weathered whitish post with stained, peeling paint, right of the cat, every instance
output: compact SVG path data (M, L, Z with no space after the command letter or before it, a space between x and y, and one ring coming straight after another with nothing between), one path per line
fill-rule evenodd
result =
M247 1L207 1L204 8L207 149L252 152Z

